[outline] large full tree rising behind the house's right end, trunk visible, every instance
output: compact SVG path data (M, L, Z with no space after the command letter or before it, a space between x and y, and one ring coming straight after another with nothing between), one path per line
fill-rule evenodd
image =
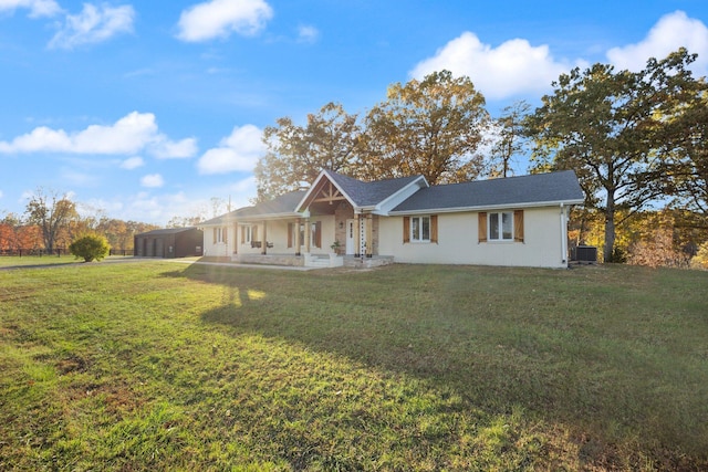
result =
M604 213L604 260L615 245L620 211L634 211L664 195L660 153L671 130L667 116L681 109L684 92L695 86L686 50L647 61L639 72L595 64L574 69L553 83L553 95L527 119L537 169L574 169L585 206ZM604 201L603 201L604 200Z

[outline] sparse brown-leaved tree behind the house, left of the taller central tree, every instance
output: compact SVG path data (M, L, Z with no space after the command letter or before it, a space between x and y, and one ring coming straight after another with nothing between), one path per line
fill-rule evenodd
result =
M353 175L361 134L357 115L327 103L308 115L305 126L289 117L277 123L263 132L268 150L254 170L258 201L308 188L322 169Z

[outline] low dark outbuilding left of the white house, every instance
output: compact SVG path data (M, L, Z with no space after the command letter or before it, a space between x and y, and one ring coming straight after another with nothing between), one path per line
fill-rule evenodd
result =
M134 252L143 258L201 255L204 232L196 227L153 230L134 237Z

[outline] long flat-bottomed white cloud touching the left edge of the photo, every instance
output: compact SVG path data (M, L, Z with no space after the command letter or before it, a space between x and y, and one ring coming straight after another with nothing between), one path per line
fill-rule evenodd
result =
M12 141L0 141L2 154L73 153L133 155L146 150L157 158L184 158L196 154L194 138L171 141L158 132L155 115L133 112L110 126L91 125L77 133L40 126Z

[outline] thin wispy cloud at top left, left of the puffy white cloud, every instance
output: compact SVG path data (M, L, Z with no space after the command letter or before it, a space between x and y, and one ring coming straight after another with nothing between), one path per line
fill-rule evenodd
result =
M134 19L132 6L114 8L84 3L81 13L66 15L66 22L49 42L49 48L73 49L106 41L118 33L129 33Z

